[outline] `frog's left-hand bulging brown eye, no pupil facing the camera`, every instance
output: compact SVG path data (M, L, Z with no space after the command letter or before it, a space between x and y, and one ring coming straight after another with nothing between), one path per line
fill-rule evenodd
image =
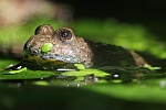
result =
M35 35L37 34L41 34L41 35L53 34L53 32L54 32L53 28L49 24L43 24L35 29Z

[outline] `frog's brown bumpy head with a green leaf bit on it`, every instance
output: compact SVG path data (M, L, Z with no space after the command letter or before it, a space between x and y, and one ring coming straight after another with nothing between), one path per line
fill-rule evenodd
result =
M54 31L49 24L40 25L24 45L24 59L41 66L81 63L91 67L92 57L84 38L76 37L68 28Z

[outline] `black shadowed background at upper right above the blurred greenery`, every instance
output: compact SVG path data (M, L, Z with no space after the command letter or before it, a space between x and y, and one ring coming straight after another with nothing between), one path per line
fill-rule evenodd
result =
M166 0L51 0L66 3L73 8L74 19L94 18L105 20L114 18L120 22L139 23L165 38Z

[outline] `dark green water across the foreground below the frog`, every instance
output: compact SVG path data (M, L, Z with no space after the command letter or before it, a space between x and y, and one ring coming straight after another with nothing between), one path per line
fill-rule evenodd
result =
M1 79L0 109L122 110L126 108L127 110L157 110L166 108L165 98L160 98L166 88L166 75L163 72L137 67L100 67L97 69L106 72L107 75L98 76L96 72L90 69L87 75L81 76L76 76L74 72L70 72L73 73L73 76L65 76L66 74L63 72L51 72L56 74L27 79L19 78L19 74L17 74L15 79ZM40 72L34 70L33 74L37 73ZM48 72L42 70L43 73ZM77 74L82 73L83 70L77 70ZM14 77L15 75L6 76ZM145 87L147 87L147 91L144 90ZM157 92L155 87L157 87ZM124 98L123 96L127 96L129 89L133 91ZM121 92L122 96L118 94L114 96L113 91ZM153 96L149 96L149 91L155 91L155 100L160 101L155 101ZM137 100L136 96L139 94L148 96L153 100L144 97ZM135 97L131 99L132 95Z

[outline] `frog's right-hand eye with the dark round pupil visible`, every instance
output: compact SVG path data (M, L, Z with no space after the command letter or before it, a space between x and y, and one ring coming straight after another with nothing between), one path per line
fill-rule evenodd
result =
M62 41L62 42L66 42L69 40L72 40L72 31L70 29L63 28L63 29L59 29L55 32L55 36Z

